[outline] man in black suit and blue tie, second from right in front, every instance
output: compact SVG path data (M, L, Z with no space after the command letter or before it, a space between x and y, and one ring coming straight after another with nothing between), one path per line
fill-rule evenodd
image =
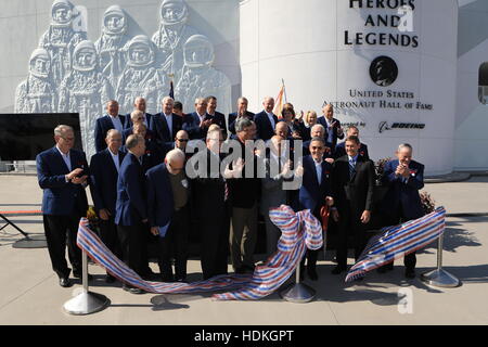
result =
M359 155L357 137L346 139L347 155L334 163L333 196L335 207L332 218L338 222L337 266L338 274L347 269L347 239L355 241L355 258L358 260L365 246L365 224L371 219L374 189L374 164Z

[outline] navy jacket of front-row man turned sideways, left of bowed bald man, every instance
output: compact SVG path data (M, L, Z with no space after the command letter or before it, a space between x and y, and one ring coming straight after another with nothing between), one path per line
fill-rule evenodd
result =
M115 223L138 226L147 219L144 172L136 155L127 153L117 180Z

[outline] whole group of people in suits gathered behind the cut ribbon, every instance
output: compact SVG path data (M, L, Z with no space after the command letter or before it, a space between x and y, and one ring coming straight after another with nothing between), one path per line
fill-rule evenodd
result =
M44 190L42 210L49 253L60 284L70 285L64 258L66 235L74 275L80 277L76 231L88 207L88 185L102 241L146 279L154 280L145 247L153 235L158 243L162 280L185 281L192 218L198 220L204 279L227 273L229 255L235 272L254 271L258 211L265 216L267 253L272 254L280 230L268 214L281 204L296 210L310 209L319 219L324 207L331 209L339 234L337 266L332 272L346 271L348 239L355 242L357 259L365 246L365 228L373 213L375 171L368 146L360 142L356 127L344 133L339 120L333 117L332 105L325 105L323 117L308 129L310 140L300 149L305 153L300 158L295 154L295 140L307 138L304 128L296 130L295 119L293 124L279 119L272 113L272 98L266 98L262 105L255 115L247 111L247 100L240 98L237 112L226 121L216 111L213 97L196 99L195 112L183 117L174 113L175 101L169 97L156 115L145 113L143 98L134 101L134 112L126 116L118 115L117 102L111 101L107 115L97 120L98 153L90 166L82 152L73 150L73 129L57 127L55 146L37 156L37 166L39 185ZM286 110L295 115L293 108ZM337 145L337 139L345 136L345 142ZM235 140L240 152L227 162L235 153L222 153L226 138ZM204 150L191 156L185 151L190 140L203 141ZM256 150L255 140L266 141L268 150ZM385 216L385 226L423 215L419 197L423 165L411 159L408 144L400 145L397 156L398 160L386 166L384 180L389 190L376 208ZM223 162L228 166L220 170ZM258 167L265 168L264 177L258 175ZM300 184L284 189L296 180ZM317 258L317 250L307 253L306 273L311 280L318 279ZM407 277L414 277L414 255L406 257ZM108 273L106 279L115 281ZM127 285L124 288L142 293Z

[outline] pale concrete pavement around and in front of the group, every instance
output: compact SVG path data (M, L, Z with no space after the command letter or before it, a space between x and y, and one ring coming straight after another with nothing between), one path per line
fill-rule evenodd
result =
M425 190L448 214L488 213L487 182L486 177L474 177L426 184ZM0 176L0 210L39 209L41 194L36 177ZM29 233L43 232L40 217L12 219ZM404 280L402 261L393 272L373 272L359 284L345 284L344 275L330 273L334 262L328 253L319 261L319 281L306 281L318 292L312 303L290 304L278 294L259 301L214 301L209 294L132 295L119 284L105 284L102 269L90 265L95 274L91 291L106 295L112 305L86 317L62 309L79 292L79 282L60 287L47 248L12 248L22 237L7 227L0 231L0 324L488 324L488 216L450 217L447 226L444 264L462 281L457 288ZM418 255L418 274L435 266L433 245ZM198 280L200 272L200 261L191 259L190 280Z

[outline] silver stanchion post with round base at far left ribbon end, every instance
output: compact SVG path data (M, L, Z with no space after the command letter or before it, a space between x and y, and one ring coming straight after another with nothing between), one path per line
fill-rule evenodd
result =
M64 304L64 310L74 316L90 314L103 310L110 305L105 295L90 292L88 288L88 256L82 252L82 292Z

